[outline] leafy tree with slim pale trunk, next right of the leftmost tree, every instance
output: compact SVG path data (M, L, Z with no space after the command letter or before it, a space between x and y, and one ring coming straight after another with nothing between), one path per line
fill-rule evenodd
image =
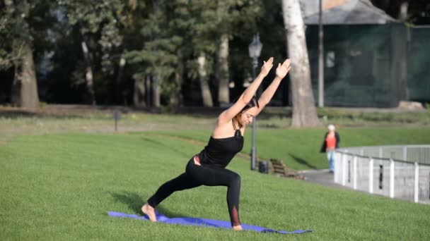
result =
M79 28L89 103L96 104L95 68L99 76L113 75L115 58L122 58L120 25L127 21L127 4L121 0L61 0L69 24ZM134 1L129 1L132 6ZM120 62L121 61L117 61ZM119 73L123 68L120 65ZM100 78L103 82L103 78Z

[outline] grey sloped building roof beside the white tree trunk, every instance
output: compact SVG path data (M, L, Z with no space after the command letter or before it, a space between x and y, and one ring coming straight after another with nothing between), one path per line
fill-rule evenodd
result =
M306 4L302 4L302 6L306 6ZM315 13L315 10L307 9L303 13L303 20L306 25L318 25L318 11ZM343 4L322 11L322 24L324 25L366 25L397 22L387 13L373 6L369 0L344 1Z

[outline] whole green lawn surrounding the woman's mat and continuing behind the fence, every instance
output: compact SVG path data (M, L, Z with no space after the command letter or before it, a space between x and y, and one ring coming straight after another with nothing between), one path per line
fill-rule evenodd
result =
M339 132L344 146L430 142L429 129ZM249 134L243 152L250 148ZM259 130L257 152L297 169L325 168L324 156L318 154L323 134L323 129ZM251 172L249 161L238 157L228 168L242 177L243 223L315 232L233 232L107 216L107 211L139 214L159 185L184 171L202 145L178 141L178 136L206 142L209 135L207 130L187 130L13 137L0 145L0 240L430 239L429 205ZM229 220L225 187L177 192L158 210L170 217Z

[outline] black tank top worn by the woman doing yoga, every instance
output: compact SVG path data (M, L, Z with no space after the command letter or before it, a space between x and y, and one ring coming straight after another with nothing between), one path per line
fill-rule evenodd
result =
M236 130L234 122L233 128ZM203 164L213 164L225 168L242 149L243 136L240 130L236 130L233 137L214 138L211 136L207 146L199 153L199 159Z

